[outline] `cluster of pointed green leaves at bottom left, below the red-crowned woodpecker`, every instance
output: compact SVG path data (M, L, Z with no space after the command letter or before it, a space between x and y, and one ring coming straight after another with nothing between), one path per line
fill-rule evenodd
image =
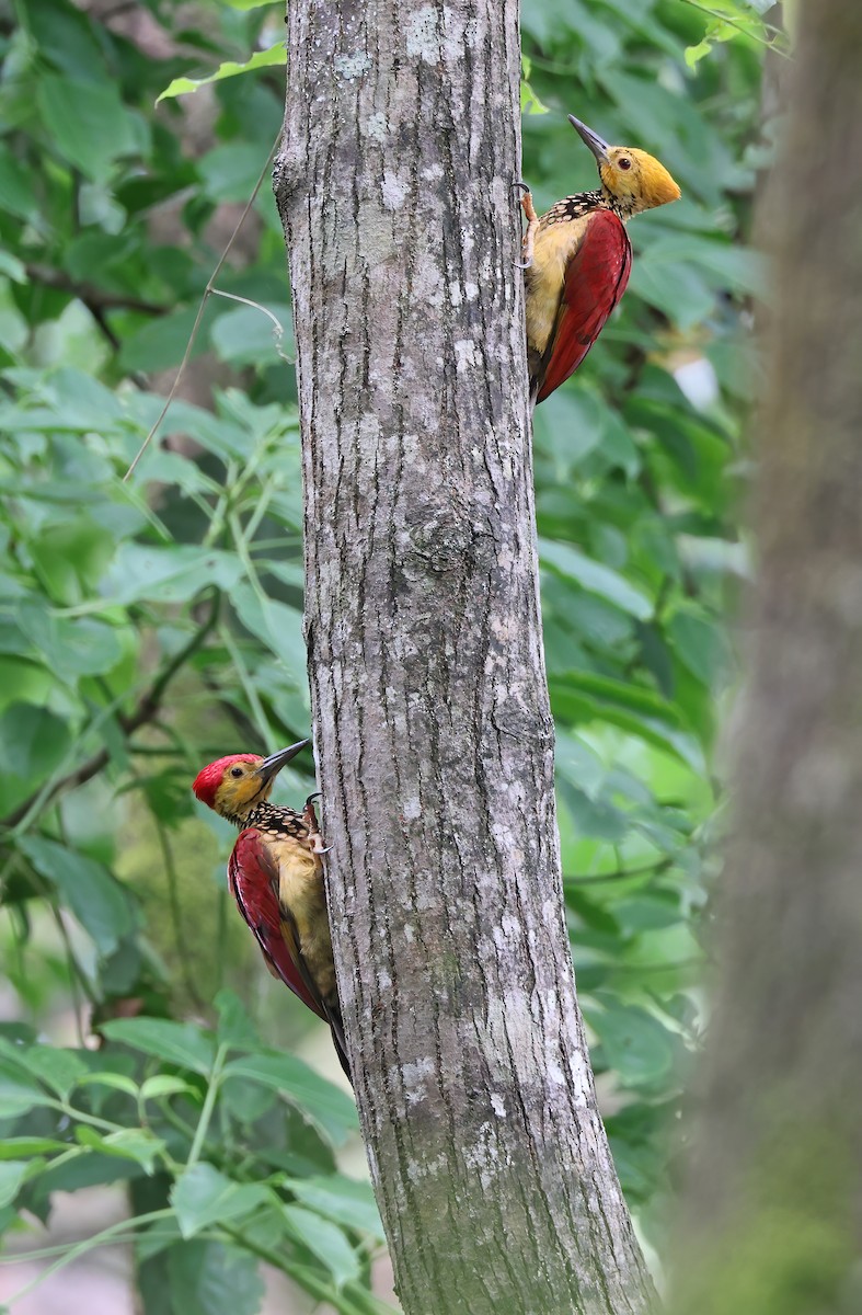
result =
M343 1315L384 1315L367 1290L382 1236L373 1193L335 1165L356 1131L352 1099L263 1047L231 992L216 1006L214 1031L106 1022L99 1051L5 1027L0 1220L9 1227L18 1211L45 1220L55 1191L124 1184L137 1206L129 1218L24 1256L50 1261L53 1274L131 1244L147 1310L206 1315L254 1315L264 1260Z

